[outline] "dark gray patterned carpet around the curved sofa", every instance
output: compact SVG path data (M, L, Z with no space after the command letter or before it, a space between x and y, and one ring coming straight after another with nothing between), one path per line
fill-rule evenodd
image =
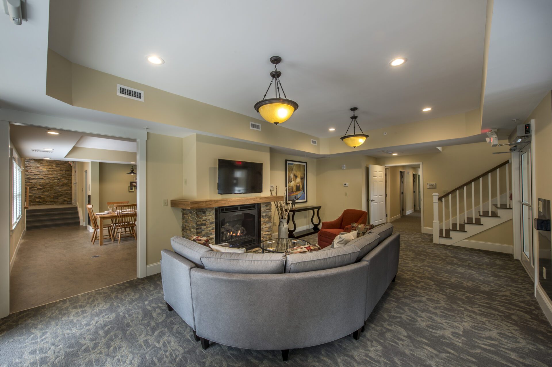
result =
M2 366L550 366L552 327L512 256L401 234L399 274L351 336L280 352L213 344L168 312L161 277L113 285L0 320Z

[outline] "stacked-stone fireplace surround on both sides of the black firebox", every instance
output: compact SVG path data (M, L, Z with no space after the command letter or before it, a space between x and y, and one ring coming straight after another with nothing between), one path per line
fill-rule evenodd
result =
M261 203L261 240L272 238L272 203ZM202 236L215 243L215 208L182 209L182 237Z

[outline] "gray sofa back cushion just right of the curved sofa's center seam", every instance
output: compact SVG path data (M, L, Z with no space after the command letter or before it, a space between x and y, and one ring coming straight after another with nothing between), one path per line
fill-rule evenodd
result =
M357 246L336 247L325 251L291 253L285 257L286 273L302 273L337 268L357 260Z

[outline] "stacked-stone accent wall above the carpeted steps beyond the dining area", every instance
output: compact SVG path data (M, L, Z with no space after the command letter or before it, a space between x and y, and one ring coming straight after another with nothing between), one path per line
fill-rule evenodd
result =
M68 161L25 159L30 204L71 204L71 171Z

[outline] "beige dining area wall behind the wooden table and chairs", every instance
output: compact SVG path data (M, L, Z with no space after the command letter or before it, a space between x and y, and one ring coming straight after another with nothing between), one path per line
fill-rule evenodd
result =
M120 163L99 164L99 208L95 212L107 211L107 203L113 201L128 201L136 203L136 191L129 192L130 181L134 175L127 175L130 165Z

